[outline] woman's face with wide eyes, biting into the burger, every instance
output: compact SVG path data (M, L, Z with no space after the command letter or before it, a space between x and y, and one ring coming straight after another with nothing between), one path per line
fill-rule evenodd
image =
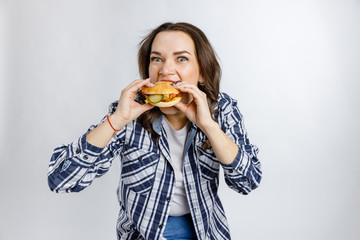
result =
M149 77L151 81L186 81L194 85L202 81L195 45L189 35L181 31L165 31L156 35L151 46ZM183 102L191 101L189 95ZM163 113L176 111L175 107L161 109Z

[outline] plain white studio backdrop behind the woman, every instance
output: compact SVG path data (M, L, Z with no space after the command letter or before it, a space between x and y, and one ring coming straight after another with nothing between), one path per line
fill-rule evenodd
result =
M47 186L52 150L139 77L164 21L200 27L260 148L249 196L221 182L233 239L360 239L360 2L0 1L0 239L115 239L119 161L81 193Z

